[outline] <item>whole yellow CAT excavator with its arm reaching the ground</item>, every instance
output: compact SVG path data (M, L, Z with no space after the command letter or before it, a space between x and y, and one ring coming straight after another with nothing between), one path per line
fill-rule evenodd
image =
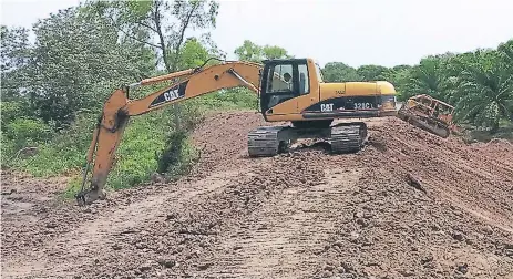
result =
M134 87L163 82L172 84L143 99L129 97ZM105 101L88 152L82 189L75 195L79 205L104 197L103 187L131 116L237 86L246 86L258 95L265 121L289 123L250 131L247 146L252 157L274 156L298 138L329 142L335 154L358 152L368 140L366 123L355 121L332 125L334 120L397 116L396 90L391 83L325 83L320 68L309 58L265 60L261 63L220 61L146 79L115 90ZM92 177L85 189L91 163Z

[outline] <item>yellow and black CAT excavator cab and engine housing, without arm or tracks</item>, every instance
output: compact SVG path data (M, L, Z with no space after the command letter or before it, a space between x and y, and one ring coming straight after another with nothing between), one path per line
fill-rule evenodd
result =
M265 60L263 64L259 100L267 122L327 128L336 118L397 114L396 90L389 82L325 83L320 68L309 58Z

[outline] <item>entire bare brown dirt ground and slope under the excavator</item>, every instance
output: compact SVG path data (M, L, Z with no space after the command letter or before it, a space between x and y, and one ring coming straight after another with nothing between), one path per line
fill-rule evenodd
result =
M214 115L192 175L89 208L2 172L2 278L513 278L511 143L386 118L358 154L249 159L261 124Z

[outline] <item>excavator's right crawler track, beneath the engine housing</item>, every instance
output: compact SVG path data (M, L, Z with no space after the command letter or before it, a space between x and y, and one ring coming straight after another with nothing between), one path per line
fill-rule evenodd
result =
M351 153L358 152L363 144L360 137L360 125L345 125L331 127L331 152Z

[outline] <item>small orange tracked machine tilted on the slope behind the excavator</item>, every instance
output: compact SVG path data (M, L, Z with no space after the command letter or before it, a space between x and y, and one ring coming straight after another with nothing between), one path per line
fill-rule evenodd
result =
M398 117L431 134L449 137L454 130L454 107L430 95L410 97L398 111Z

